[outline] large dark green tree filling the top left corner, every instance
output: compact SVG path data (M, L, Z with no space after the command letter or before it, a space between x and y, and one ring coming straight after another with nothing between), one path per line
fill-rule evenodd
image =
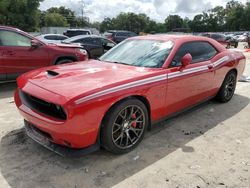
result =
M38 7L42 0L1 0L0 24L35 31L39 24Z

